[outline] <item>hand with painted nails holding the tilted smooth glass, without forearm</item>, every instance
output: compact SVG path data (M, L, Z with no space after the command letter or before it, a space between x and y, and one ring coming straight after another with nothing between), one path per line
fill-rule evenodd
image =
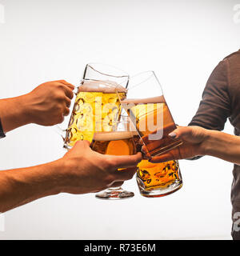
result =
M205 154L204 142L208 137L208 130L199 126L178 126L178 129L169 134L172 138L181 138L183 144L150 159L150 162L167 162L170 160L193 158Z

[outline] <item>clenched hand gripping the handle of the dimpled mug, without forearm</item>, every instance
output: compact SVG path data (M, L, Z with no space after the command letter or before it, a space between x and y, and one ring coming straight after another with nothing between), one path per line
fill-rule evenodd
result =
M70 113L74 86L65 80L46 82L24 95L28 104L28 115L33 123L53 126L61 123Z

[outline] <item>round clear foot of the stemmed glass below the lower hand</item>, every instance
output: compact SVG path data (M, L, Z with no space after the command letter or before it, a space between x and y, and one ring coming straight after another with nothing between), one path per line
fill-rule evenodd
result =
M134 192L122 190L121 187L110 188L107 190L103 190L98 194L95 194L95 197L98 199L108 199L108 200L126 199L126 198L134 197Z

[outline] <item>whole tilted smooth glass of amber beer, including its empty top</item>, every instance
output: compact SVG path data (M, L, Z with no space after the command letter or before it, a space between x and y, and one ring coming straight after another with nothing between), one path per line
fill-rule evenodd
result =
M180 139L168 135L176 125L153 71L130 78L127 97L119 94L119 100L142 138L149 158L182 144Z

